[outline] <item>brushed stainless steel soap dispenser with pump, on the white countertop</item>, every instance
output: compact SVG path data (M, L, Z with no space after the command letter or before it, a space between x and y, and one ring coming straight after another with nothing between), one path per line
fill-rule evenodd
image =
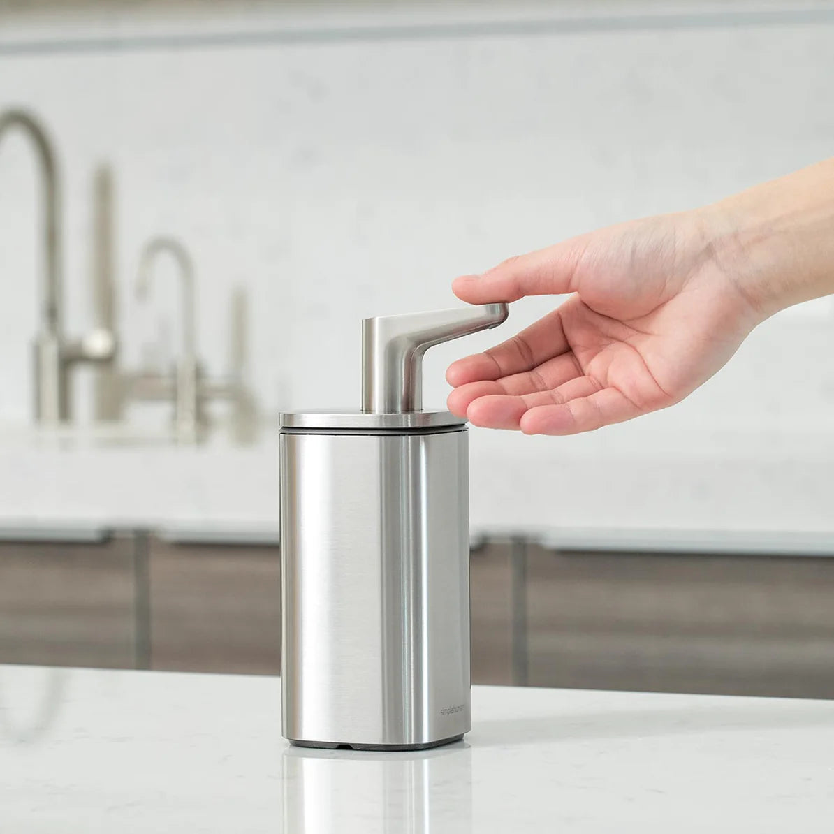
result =
M421 750L470 730L465 420L423 354L506 304L364 319L362 410L281 414L284 737Z

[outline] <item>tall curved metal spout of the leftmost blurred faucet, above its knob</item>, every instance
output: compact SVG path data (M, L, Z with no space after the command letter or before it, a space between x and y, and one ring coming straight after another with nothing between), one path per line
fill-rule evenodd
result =
M26 110L0 113L0 141L10 128L20 128L32 140L38 152L43 176L43 293L41 329L43 335L61 334L61 266L59 259L61 228L58 221L58 166L46 130Z

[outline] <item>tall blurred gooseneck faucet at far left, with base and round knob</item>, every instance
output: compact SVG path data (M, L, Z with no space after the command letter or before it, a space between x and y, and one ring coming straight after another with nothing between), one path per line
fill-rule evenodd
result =
M93 329L77 341L64 338L58 164L46 131L32 113L21 109L0 113L0 140L11 128L19 128L31 139L42 169L44 271L40 324L34 344L35 418L43 425L58 425L68 422L71 417L70 370L73 365L112 360L116 354L116 338L106 328Z

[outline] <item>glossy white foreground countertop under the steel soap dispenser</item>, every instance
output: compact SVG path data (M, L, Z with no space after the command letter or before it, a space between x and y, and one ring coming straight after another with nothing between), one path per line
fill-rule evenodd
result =
M476 686L465 741L304 751L271 677L0 666L0 829L831 831L834 702Z

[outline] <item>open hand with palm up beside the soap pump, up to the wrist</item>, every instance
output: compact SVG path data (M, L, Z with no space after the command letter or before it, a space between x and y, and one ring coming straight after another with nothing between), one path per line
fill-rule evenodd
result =
M674 404L766 314L716 254L714 209L612 226L452 285L470 304L571 294L552 313L450 365L450 411L473 425L570 435Z

